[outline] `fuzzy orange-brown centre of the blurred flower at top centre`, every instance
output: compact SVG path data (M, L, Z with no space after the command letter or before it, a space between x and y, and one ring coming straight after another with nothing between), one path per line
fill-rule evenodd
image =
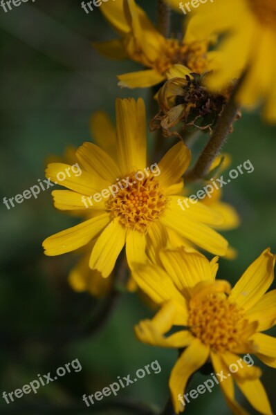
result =
M165 74L174 64L187 66L195 73L207 71L207 45L205 42L181 44L177 39L166 39L163 54L156 62L156 70Z

